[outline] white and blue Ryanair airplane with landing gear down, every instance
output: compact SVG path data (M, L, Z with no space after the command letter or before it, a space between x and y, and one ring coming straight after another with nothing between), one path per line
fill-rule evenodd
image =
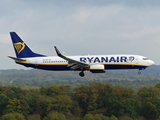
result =
M141 74L140 70L154 64L147 57L131 54L67 56L56 46L54 49L57 56L46 56L33 52L15 32L10 32L10 36L17 57L8 57L25 67L52 71L80 71L79 76L84 77L84 71L105 73L106 70L114 69L138 69L138 74Z

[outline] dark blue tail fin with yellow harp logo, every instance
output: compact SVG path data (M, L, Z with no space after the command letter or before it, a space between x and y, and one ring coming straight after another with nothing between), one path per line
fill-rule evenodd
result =
M22 41L22 39L15 32L10 32L10 35L17 58L45 56L32 52L32 50Z

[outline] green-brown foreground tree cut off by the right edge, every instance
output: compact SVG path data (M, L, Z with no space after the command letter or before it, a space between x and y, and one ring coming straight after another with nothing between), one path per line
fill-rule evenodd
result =
M139 89L137 96L141 101L140 115L152 120L160 115L160 89L148 87Z

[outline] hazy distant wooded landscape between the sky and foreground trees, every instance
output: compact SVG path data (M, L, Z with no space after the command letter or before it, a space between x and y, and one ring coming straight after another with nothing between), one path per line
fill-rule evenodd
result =
M107 71L104 74L86 72L85 77L79 77L78 72L54 72L40 70L1 70L1 86L20 86L23 88L49 87L56 85L69 85L78 87L92 82L111 83L134 90L154 86L160 82L160 73L142 73L126 71Z

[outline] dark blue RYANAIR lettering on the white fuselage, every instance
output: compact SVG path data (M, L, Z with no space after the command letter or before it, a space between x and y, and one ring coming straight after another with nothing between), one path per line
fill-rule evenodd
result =
M86 63L110 63L110 62L132 62L134 60L133 56L126 57L80 57L80 62Z

